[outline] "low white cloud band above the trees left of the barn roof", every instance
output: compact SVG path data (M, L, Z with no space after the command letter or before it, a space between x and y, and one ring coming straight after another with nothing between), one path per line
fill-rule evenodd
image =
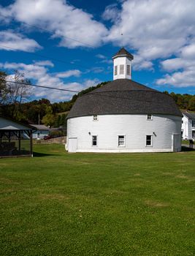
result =
M18 69L19 72L22 72L26 78L33 80L38 86L48 86L55 87L58 89L66 89L72 91L81 91L88 88L89 86L94 86L99 83L99 80L84 80L83 83L64 83L63 80L58 78L58 73L50 73L48 70L48 64L52 67L52 62L45 61L45 66L39 65L42 61L37 61L34 64L24 64L24 63L0 63L0 67L8 70ZM43 63L42 63L43 64ZM70 71L70 70L69 70ZM68 71L68 72L69 72ZM11 75L12 76L12 75ZM51 102L65 101L72 98L72 95L76 92L69 91L55 91L44 88L34 88L33 90L34 97L40 98L45 97L50 99Z

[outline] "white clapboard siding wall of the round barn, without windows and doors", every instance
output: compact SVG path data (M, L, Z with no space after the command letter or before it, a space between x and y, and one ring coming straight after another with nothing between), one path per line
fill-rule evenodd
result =
M180 133L180 116L155 114L147 120L145 114L100 115L98 121L82 116L67 120L66 148L69 150L69 138L77 138L77 152L173 151L172 135ZM92 146L93 135L97 146ZM118 146L118 135L125 136L125 146ZM152 135L153 146L146 146L146 135Z

